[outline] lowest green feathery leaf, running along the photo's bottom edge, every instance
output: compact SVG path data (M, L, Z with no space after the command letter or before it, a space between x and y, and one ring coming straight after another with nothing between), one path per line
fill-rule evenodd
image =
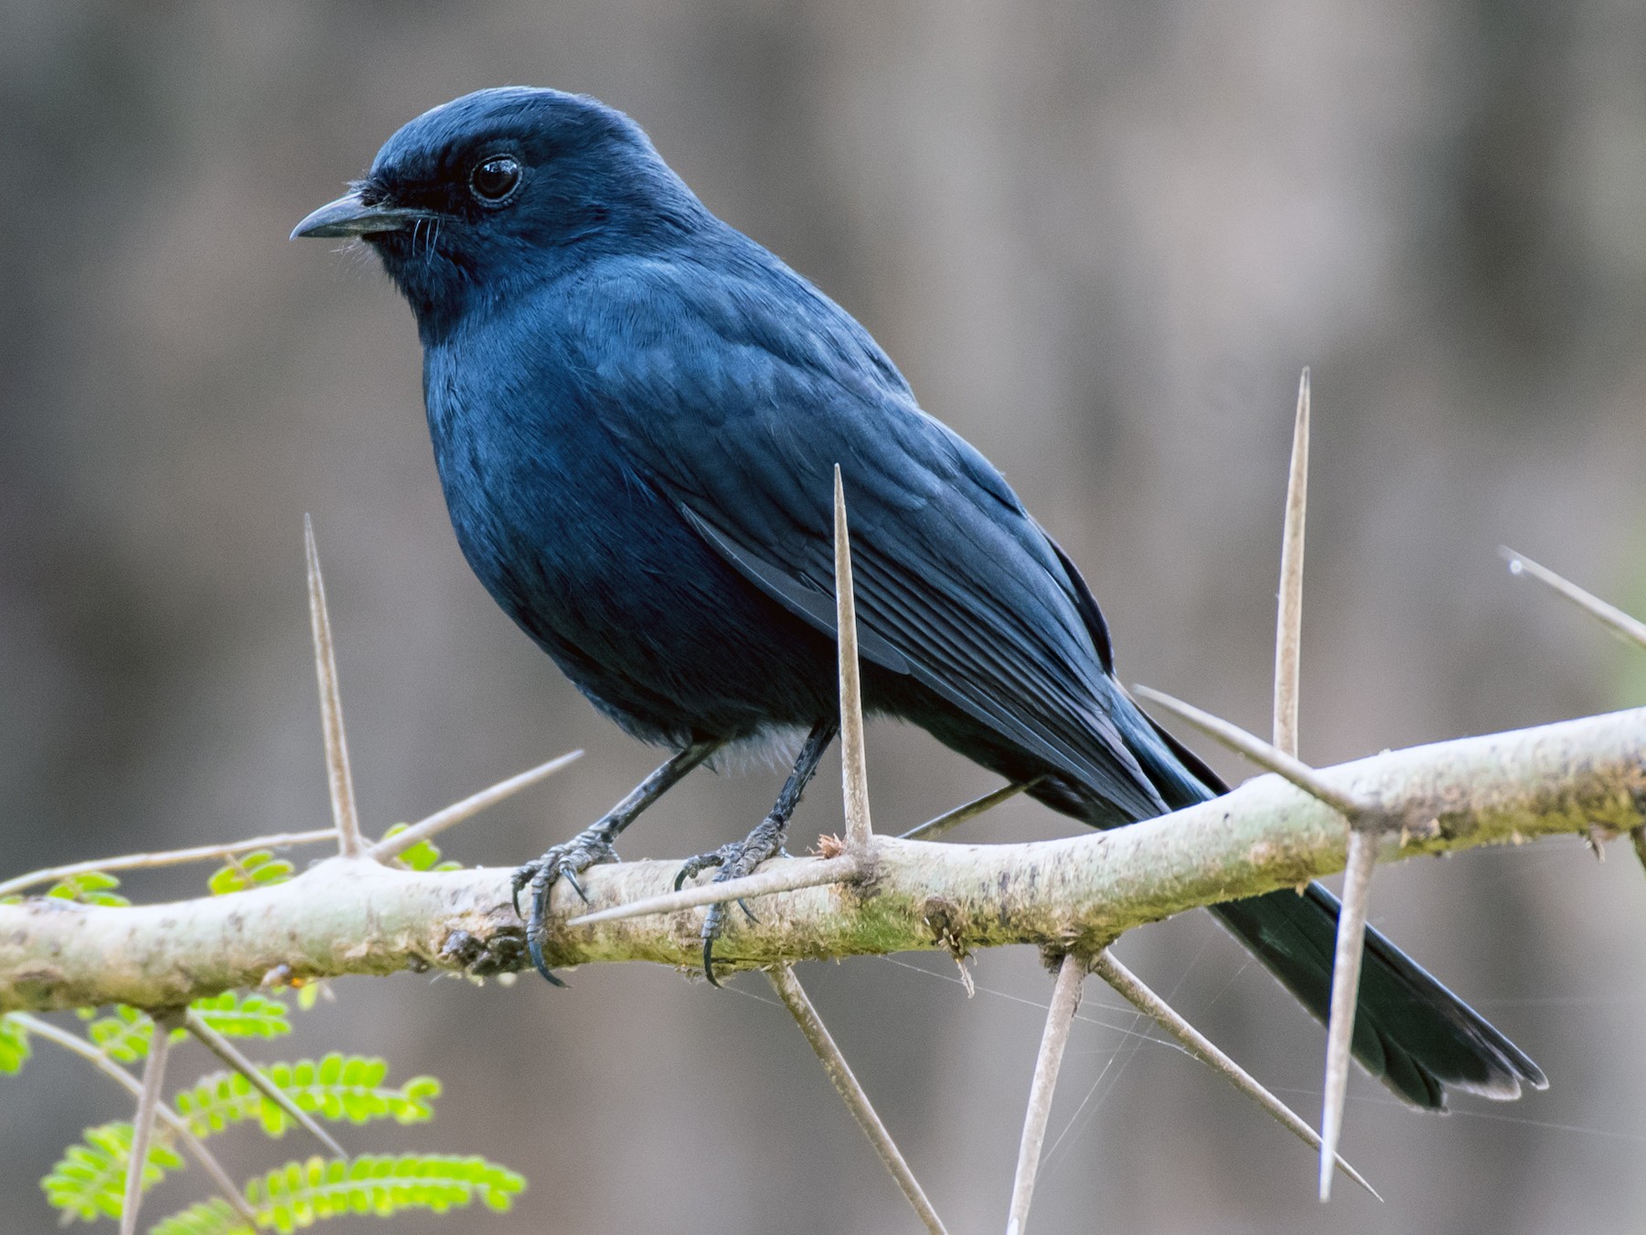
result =
M362 1154L351 1161L309 1158L253 1179L245 1197L258 1223L285 1235L347 1214L393 1217L408 1209L444 1214L476 1199L505 1210L525 1179L484 1158L449 1154ZM150 1235L247 1235L224 1200L207 1200L150 1228Z

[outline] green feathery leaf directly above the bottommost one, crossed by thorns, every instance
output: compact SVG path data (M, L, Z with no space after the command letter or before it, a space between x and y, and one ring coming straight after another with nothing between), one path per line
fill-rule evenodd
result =
M425 1123L435 1118L433 1100L439 1097L435 1077L412 1077L400 1088L384 1085L388 1064L370 1056L332 1052L319 1060L268 1064L262 1070L301 1110L324 1120ZM288 1123L286 1113L239 1072L201 1077L178 1093L176 1107L196 1136L244 1120L260 1120L270 1136L281 1136Z

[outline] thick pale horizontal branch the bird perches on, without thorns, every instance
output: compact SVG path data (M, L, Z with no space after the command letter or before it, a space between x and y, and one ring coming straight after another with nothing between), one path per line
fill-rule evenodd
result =
M1389 861L1559 832L1646 822L1646 708L1417 746L1322 769L1355 802L1402 822ZM1098 952L1123 930L1343 866L1341 817L1277 776L1114 832L1030 845L937 845L877 835L866 874L760 901L719 955L737 965L915 948L1037 944ZM769 869L815 863L793 858ZM588 871L593 907L667 891L678 863ZM61 899L0 906L0 1011L102 1003L179 1006L277 970L321 978L431 967L523 968L510 871L416 873L331 858L273 888L161 906ZM693 968L700 914L566 929L556 889L545 955L556 968L652 960Z

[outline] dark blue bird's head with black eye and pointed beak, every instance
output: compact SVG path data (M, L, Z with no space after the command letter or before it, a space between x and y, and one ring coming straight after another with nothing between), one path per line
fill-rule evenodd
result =
M384 143L364 179L291 232L359 237L425 339L589 254L644 250L708 214L627 115L560 91L476 91Z

